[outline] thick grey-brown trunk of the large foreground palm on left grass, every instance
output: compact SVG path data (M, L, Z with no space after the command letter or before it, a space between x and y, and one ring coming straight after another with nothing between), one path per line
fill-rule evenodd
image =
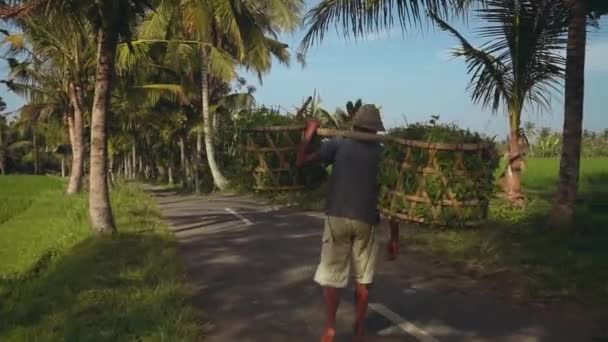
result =
M101 25L98 29L97 75L91 112L91 170L89 214L91 228L97 234L116 232L110 191L108 189L108 139L107 115L111 95L114 59L118 33L109 21L112 17L111 1L97 1L101 6Z

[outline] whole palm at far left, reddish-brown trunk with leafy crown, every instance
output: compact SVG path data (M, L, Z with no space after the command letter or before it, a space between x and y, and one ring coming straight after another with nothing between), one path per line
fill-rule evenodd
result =
M84 102L95 66L92 29L87 23L71 18L41 14L18 18L13 23L21 32L5 36L7 56L26 56L39 69L23 75L22 86L50 82L54 84L51 90L63 92L69 99L70 108L62 114L72 148L66 192L75 194L81 190L84 176ZM50 75L45 77L45 73Z

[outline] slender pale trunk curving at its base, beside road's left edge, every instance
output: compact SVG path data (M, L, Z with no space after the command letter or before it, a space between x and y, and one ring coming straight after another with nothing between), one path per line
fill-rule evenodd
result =
M213 145L213 119L209 110L209 82L208 82L208 59L204 49L201 52L201 90L202 90L202 112L203 112L203 131L205 134L205 151L207 152L207 161L213 182L220 190L228 188L228 180L222 175L217 162L215 160L215 146Z

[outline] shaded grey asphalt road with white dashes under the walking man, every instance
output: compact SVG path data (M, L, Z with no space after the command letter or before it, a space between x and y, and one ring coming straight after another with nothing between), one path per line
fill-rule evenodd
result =
M322 301L312 278L321 214L254 198L151 191L179 241L195 304L210 322L208 341L319 340ZM420 255L403 251L378 267L368 341L592 341L592 332L563 312L511 305L486 288L491 282L479 283ZM352 300L349 287L342 293L337 341L352 337Z

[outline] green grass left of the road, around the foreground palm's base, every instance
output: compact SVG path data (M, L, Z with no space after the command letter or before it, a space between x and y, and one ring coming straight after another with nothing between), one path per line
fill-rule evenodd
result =
M63 195L60 180L0 185L0 200L29 197L0 224L0 341L200 340L175 241L143 191L117 187L120 233L94 238L85 196Z

